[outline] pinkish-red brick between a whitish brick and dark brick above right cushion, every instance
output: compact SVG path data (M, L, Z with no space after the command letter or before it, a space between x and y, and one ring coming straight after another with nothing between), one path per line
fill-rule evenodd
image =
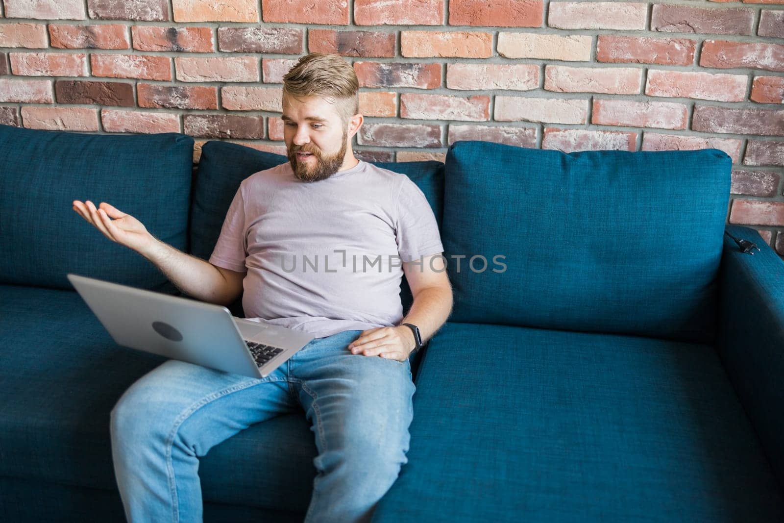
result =
M686 129L687 120L688 108L684 104L593 99L591 123L595 125Z

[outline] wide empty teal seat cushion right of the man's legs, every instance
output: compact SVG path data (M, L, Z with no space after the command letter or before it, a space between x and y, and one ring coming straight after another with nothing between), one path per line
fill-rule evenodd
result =
M373 521L784 521L713 347L448 323Z

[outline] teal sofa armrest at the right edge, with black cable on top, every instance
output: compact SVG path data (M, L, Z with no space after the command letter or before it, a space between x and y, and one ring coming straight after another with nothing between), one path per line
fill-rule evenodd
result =
M760 250L744 253L724 234L716 347L784 485L784 261L757 231L726 231Z

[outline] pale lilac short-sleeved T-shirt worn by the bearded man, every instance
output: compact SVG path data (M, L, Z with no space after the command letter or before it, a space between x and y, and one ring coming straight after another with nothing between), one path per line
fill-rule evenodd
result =
M242 180L209 262L247 272L248 319L320 338L397 325L401 262L443 250L408 176L360 160L303 182L287 162Z

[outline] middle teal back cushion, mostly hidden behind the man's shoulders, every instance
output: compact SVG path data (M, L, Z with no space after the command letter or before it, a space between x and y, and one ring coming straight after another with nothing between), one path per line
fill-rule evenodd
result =
M211 140L201 147L201 160L194 181L191 209L191 254L208 260L220 236L232 198L242 180L253 173L288 162L281 154L256 151L237 143ZM372 162L411 178L423 191L441 225L444 188L444 164L441 162ZM411 292L403 278L401 300L404 310L411 306ZM241 297L228 307L241 316Z

